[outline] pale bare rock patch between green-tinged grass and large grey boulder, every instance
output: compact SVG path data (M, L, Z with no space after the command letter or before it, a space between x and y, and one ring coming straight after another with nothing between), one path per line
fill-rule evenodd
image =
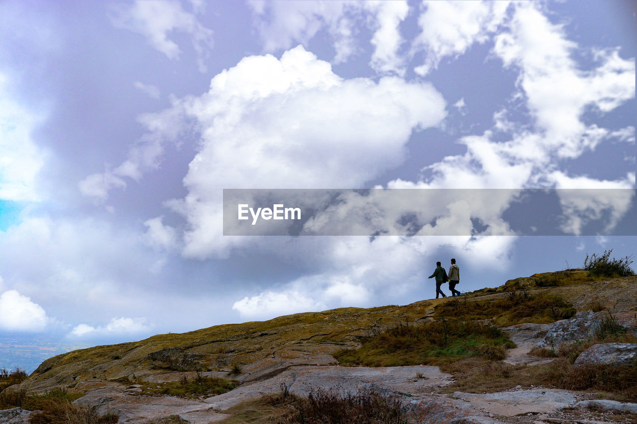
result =
M523 323L505 327L502 330L517 345L506 351L503 362L511 365L539 365L552 362L552 358L538 358L529 355L529 351L543 339L553 324Z

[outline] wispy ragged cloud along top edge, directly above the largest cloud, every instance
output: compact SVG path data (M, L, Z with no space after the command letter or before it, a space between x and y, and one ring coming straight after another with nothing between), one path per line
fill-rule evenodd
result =
M360 46L355 26L366 23L374 46L369 66L378 73L404 74L403 43L399 25L407 17L406 1L286 1L248 3L259 29L264 51L287 50L296 43L308 45L325 29L333 39L334 63L347 62Z

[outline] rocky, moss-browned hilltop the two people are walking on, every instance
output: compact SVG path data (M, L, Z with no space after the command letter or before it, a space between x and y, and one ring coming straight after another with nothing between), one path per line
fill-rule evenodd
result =
M491 367L487 374L505 376L501 378L505 383L499 386L503 390L495 386L485 390L462 386L459 381L462 378L454 374L453 368L457 367L458 361L440 362L441 367L408 362L401 367L352 367L343 366L345 364L333 356L348 349L362 349L366 341L388 329L440 321L444 318L440 311L447 310L442 308L449 307L449 302L464 302L464 307L468 305L469 309L472 305L482 305L480 307L485 309L491 303L496 304L498 299L513 299L520 293L529 299L540 293L557 296L568 302L566 309L572 311L569 318L557 322L550 314L517 318L509 311L499 311L489 319L478 317L480 320L476 322L480 325L495 325L504 331L503 334L509 337L508 349L503 358L487 358L485 353L485 358L467 360L482 360L472 366ZM134 343L76 350L46 360L19 386L11 386L5 392L43 393L62 388L76 393L79 398L75 403L114 411L119 422L131 423L168 423L173 422L171 419L191 423L222 421L231 417L229 411L241 402L264 393L280 392L282 387L301 396L316 388L341 393L373 388L401 397L400 401L412 411L410 422L592 423L595 419L599 421L599 414L605 414L603 419L606 421L603 422L637 422L637 404L626 402L632 398L610 395L608 399L624 402L600 400L596 399L599 397L596 393L581 390L525 386L524 378L516 380L515 375L513 378L510 375L520 372L527 376L532 367L540 369L550 367L554 361L566 361L568 355L565 359L560 358L564 355L555 353L558 352L557 345L566 349L564 346L578 343L578 340L580 344L582 340L590 342L608 316L612 316L613 323L622 329L625 339L622 340L631 341L630 337L637 336L636 276L594 279L581 270L545 272L512 279L497 288L485 288L455 299L447 297L421 300L406 306L347 307L299 313L264 322L217 325L183 334L161 334ZM604 346L622 344L608 340L611 343ZM627 347L620 353L614 349L617 346L603 346L612 352L593 354L592 363L605 364L606 361L608 365L608 355L615 355L615 358L619 355L620 362L615 360L613 364L637 367L634 359L637 358L637 344L623 344ZM535 356L529 355L532 350ZM591 355L588 357L590 360ZM598 362L595 362L596 358ZM571 366L575 365L568 365ZM220 395L189 399L148 392L151 387L160 388L169 382L202 377L233 379L234 386L231 387L236 388ZM514 380L519 380L520 384L511 383ZM0 411L0 423L27 422L29 413L18 409L7 410L13 411L11 413ZM564 414L575 414L575 418L568 421ZM593 414L592 418L590 414Z

